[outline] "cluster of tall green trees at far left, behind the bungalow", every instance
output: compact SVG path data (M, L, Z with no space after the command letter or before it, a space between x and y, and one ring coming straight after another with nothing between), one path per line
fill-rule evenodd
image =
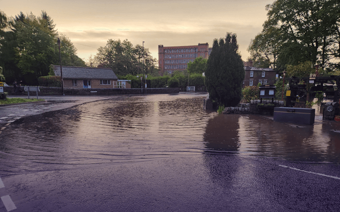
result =
M59 64L58 37L62 65L86 66L70 40L54 29L46 12L40 17L20 12L15 18L0 12L0 20L0 66L8 81L38 84L38 77L48 75L51 64Z

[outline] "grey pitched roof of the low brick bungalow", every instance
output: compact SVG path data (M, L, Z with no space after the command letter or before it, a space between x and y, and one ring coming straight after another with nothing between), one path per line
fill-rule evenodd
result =
M60 76L60 66L54 65L54 73ZM62 66L62 78L66 79L118 79L111 68Z

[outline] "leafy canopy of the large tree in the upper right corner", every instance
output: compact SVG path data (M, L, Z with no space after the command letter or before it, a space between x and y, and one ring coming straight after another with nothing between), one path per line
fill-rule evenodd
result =
M253 61L281 70L306 61L328 71L339 68L338 0L276 0L266 10L264 29L248 48Z

